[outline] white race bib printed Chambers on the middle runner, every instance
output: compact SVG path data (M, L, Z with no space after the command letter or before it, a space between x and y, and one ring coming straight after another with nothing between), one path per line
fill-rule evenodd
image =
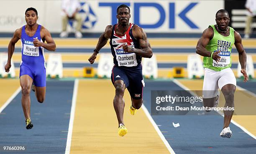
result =
M123 49L115 50L116 60L118 61L118 66L137 66L136 54L130 52L124 52Z

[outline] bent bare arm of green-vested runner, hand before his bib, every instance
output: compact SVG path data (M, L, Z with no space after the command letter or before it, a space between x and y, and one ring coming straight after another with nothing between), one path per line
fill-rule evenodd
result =
M207 28L202 33L202 37L197 42L196 52L198 55L204 56L204 57L211 57L211 52L206 50L207 44L210 42L210 40L213 38L214 32L212 28ZM220 51L214 52L212 54L212 59L216 62L220 61L220 56L218 55Z

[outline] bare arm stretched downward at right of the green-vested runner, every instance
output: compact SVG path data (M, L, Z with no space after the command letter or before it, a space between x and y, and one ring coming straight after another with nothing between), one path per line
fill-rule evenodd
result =
M234 31L234 36L235 36L235 46L236 46L236 50L238 51L239 62L242 68L241 73L243 74L244 82L247 82L248 75L246 73L246 52L243 48L241 35L238 32Z

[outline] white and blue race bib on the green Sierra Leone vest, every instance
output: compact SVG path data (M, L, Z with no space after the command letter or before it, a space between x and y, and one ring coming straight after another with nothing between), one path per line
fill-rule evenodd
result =
M216 52L216 51L214 51ZM220 52L218 53L220 56L220 62L216 62L215 60L212 60L212 66L214 67L226 67L230 64L230 52L225 51L225 52Z

